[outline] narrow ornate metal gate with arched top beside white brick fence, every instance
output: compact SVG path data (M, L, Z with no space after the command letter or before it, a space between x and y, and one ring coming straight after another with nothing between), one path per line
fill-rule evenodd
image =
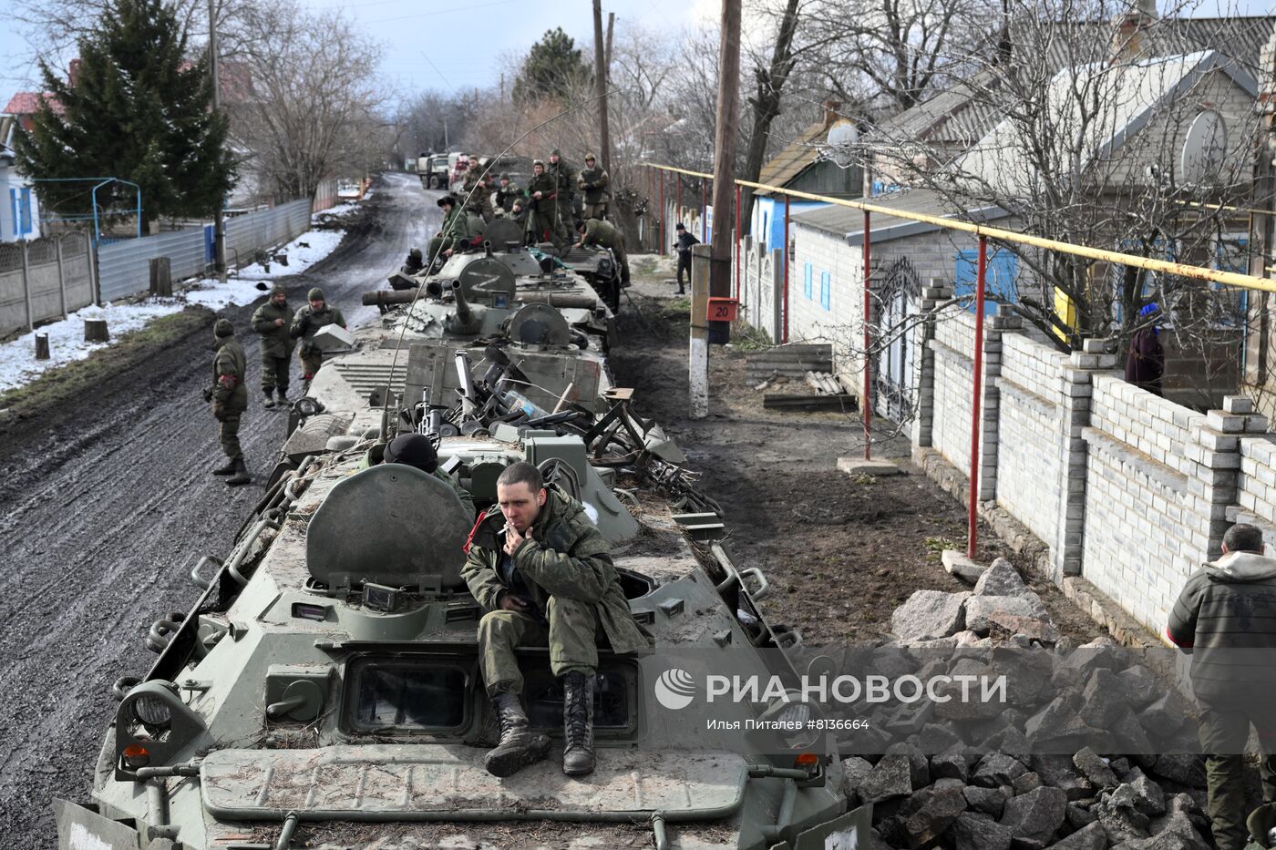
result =
M912 263L902 257L882 269L880 283L873 288L880 305L875 336L882 343L873 370L877 407L889 420L903 422L914 412L912 359L921 282Z

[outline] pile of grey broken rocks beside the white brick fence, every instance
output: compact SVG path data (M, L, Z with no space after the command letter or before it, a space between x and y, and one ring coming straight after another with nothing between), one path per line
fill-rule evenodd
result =
M851 804L874 805L870 846L1210 847L1202 837L1208 832L1201 757L1182 748L1182 754L1151 754L1166 752L1160 742L1191 733L1188 703L1146 666L1129 664L1109 638L1071 646L1008 562L981 570L971 592L915 592L894 611L892 629L898 639L883 648L926 657L951 648L953 659L961 656L948 665L951 674L963 664L977 669L984 664L977 648L985 647L984 656L1022 647L1051 661L1040 682L1045 705L1031 716L1003 706L974 715L953 703L931 703L923 712L900 707L875 730L882 744L897 742L886 745L884 756L845 759ZM919 673L937 669L931 661ZM1037 684L1014 675L1009 687ZM910 734L900 740L903 733ZM1082 740L1106 743L1100 752L1141 754L1105 758L1097 745L1059 747ZM1042 752L1057 754L1030 754Z

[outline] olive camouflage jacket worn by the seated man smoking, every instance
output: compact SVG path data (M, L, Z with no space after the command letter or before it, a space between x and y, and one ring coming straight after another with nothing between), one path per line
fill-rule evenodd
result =
M598 622L615 652L641 652L651 647L629 611L620 587L620 574L611 563L611 548L590 519L584 507L560 489L550 486L532 535L514 553L514 568L522 574L538 610L550 596L592 602ZM500 507L484 513L471 535L470 554L461 576L485 610L495 610L500 591L508 590L496 572L505 525Z

